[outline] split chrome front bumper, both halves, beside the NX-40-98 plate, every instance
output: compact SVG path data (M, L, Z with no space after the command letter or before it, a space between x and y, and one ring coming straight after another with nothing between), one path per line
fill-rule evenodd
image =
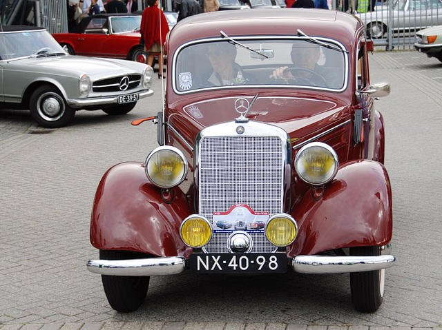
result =
M394 265L392 255L381 256L296 256L291 265L297 273L334 274L375 271ZM88 271L115 276L162 276L180 274L186 269L184 257L130 260L90 260Z

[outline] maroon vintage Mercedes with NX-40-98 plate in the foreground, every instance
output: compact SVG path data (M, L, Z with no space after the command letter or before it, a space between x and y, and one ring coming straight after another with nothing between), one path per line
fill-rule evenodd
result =
M359 311L394 265L383 116L365 27L334 10L238 10L180 21L166 41L164 109L144 163L97 189L90 241L111 307L149 276L350 273ZM263 221L264 229L250 229ZM218 227L217 223L231 226Z

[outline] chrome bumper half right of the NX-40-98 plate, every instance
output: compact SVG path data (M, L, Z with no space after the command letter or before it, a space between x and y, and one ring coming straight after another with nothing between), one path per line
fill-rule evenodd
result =
M336 274L375 271L394 266L396 258L382 256L296 256L291 265L297 273Z

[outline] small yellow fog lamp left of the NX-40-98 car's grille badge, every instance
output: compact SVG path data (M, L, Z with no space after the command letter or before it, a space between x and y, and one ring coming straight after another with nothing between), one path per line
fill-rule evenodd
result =
M204 247L212 236L212 227L202 216L189 216L181 224L180 235L189 247Z

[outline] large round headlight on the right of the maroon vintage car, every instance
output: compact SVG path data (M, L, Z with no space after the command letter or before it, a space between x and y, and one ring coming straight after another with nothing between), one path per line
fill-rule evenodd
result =
M322 142L305 145L295 157L298 176L311 185L325 185L338 172L338 155L332 147Z

